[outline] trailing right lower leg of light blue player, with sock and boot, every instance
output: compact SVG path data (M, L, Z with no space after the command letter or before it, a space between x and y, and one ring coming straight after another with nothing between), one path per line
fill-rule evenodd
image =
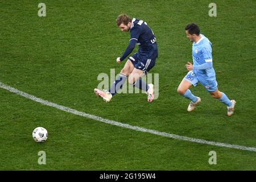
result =
M229 116L234 113L234 106L236 105L236 101L234 100L230 101L229 98L226 96L226 94L223 92L220 92L218 88L213 92L209 91L209 93L213 98L217 98L219 101L221 101L223 104L225 104L228 107Z

